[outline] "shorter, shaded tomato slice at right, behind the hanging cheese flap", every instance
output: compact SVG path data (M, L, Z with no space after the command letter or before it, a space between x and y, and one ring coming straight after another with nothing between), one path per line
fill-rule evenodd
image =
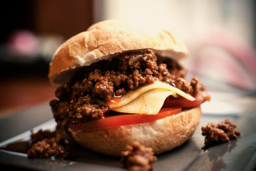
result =
M164 101L163 107L168 108L182 108L182 107L197 107L204 103L205 100L196 99L194 101L189 100L166 100Z

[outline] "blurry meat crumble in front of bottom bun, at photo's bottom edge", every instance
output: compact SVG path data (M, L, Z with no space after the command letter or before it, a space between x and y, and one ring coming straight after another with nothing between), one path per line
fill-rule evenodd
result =
M127 170L153 170L153 162L156 160L152 148L145 147L139 142L127 145L125 151L122 151L121 163Z

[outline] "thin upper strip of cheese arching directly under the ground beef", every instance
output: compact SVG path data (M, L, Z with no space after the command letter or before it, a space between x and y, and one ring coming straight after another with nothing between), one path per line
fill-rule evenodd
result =
M129 93L125 94L124 96L122 96L120 98L116 98L116 101L115 100L111 100L108 103L109 108L111 110L113 110L113 108L118 108L118 107L122 107L124 105L127 105L132 100L138 98L138 96L140 96L141 94L143 94L143 93L145 93L147 91L150 91L152 89L157 89L157 90L164 89L164 90L170 91L172 93L172 96L174 96L174 97L176 97L177 94L179 94L180 96L186 98L187 100L190 100L190 101L195 100L195 98L193 98L189 94L184 93L184 91L181 91L180 89L177 89L176 87L173 87L170 84L166 84L164 82L156 81L153 84L145 85L145 86L140 87L139 89L136 89L134 91L129 91ZM156 92L156 94L157 94L157 92ZM161 98L160 94L157 94L157 96L159 96L159 98ZM164 98L164 100L166 98Z

